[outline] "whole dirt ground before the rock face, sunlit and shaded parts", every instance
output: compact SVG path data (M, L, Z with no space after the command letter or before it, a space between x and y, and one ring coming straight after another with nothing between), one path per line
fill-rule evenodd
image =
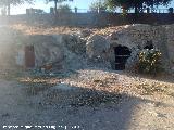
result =
M0 79L0 130L173 130L173 77L101 69L7 76Z

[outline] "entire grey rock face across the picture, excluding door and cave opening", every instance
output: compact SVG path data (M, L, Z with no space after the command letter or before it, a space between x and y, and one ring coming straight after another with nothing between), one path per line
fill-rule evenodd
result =
M137 50L157 48L162 52L163 65L174 66L174 25L127 25L108 36L92 35L91 30L73 35L27 36L9 27L1 27L1 63L25 64L25 46L34 46L35 66L58 63L63 68L84 68L90 63L102 67L115 66L115 48L126 47L132 52L125 67L136 62ZM5 66L5 65L4 65Z

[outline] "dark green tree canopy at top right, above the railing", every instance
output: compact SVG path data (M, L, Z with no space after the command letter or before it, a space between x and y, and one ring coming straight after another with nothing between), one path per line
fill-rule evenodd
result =
M135 9L135 13L140 12L144 6L153 8L153 5L167 5L172 0L105 0L109 8L121 6L124 10Z

